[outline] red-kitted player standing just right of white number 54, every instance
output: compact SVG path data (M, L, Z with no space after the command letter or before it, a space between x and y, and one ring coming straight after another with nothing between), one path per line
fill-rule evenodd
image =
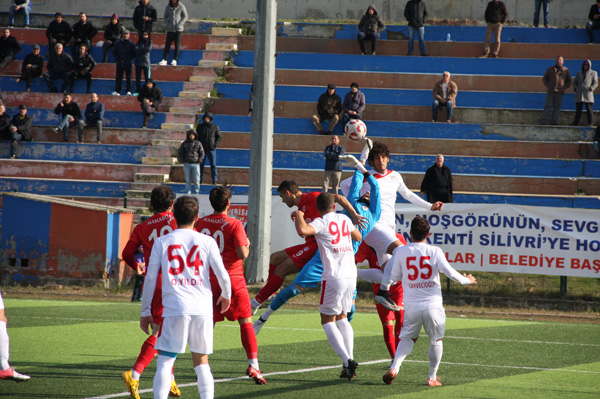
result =
M248 369L246 375L253 378L259 385L266 385L267 381L262 376L258 365L258 344L252 327L252 308L250 295L244 276L244 259L250 253L250 241L244 230L244 225L237 219L227 216L231 204L231 190L227 187L217 186L210 190L210 204L214 209L212 215L198 219L196 230L215 239L225 269L231 279L231 306L221 314L214 312L214 322L237 320L240 324L242 346L246 350ZM221 295L216 276L211 273L210 285L213 291L213 301ZM216 305L216 303L215 303Z

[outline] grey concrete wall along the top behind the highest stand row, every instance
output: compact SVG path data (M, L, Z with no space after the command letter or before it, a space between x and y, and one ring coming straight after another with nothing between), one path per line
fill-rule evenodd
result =
M192 18L195 19L254 19L257 0L182 0ZM31 0L34 13L76 14L85 11L90 15L119 15L130 17L137 0ZM151 0L162 16L166 0ZM358 20L368 4L375 4L384 20L404 22L406 0L369 0L365 2L342 0L279 0L279 20ZM427 0L430 18L483 20L488 0ZM505 0L509 19L531 24L534 0ZM8 10L10 0L0 1L0 10ZM587 13L592 0L554 0L550 4L552 26L579 25L587 22Z

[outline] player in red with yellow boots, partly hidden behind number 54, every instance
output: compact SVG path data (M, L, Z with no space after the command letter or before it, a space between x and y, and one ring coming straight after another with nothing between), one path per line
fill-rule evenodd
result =
M174 200L175 194L171 187L166 185L154 187L150 194L150 209L154 212L154 215L145 222L135 226L129 237L129 241L123 249L123 260L138 275L146 274L146 265L150 259L152 246L156 239L169 234L177 228L177 223L172 213ZM140 245L144 249L145 263L138 263L134 256L135 251ZM160 330L163 312L160 283L156 285L156 291L157 295L154 296L152 302L152 334L144 341L140 349L140 354L131 370L125 371L122 375L123 381L127 385L127 390L131 394L131 397L135 399L140 399L138 393L140 376L156 356L154 345L156 344L156 337ZM181 391L175 383L175 378L172 378L171 382L171 395L175 397L181 396Z

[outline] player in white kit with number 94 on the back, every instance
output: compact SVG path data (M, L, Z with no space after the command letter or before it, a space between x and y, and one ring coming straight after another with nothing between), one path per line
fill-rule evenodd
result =
M321 325L329 344L342 359L340 378L351 381L356 375L358 363L354 356L354 331L347 314L352 309L352 297L356 289L356 264L352 240L362 240L358 229L346 215L335 213L335 200L331 193L317 197L320 218L306 223L301 210L295 213L296 231L300 235L314 235L319 245L323 275L321 277L321 300L319 312Z

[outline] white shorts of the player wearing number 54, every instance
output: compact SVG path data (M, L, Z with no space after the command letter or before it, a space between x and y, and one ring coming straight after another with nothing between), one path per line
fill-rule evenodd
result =
M210 355L213 352L212 316L170 316L163 318L155 348L174 353L190 351Z

